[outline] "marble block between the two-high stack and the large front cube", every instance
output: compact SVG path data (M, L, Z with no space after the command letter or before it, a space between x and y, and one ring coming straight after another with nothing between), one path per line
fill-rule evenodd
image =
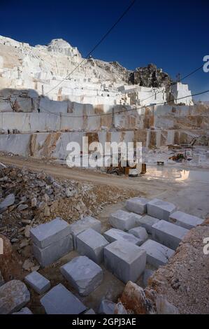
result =
M109 242L92 228L85 230L77 236L77 251L80 255L86 255L96 264L103 262L103 248Z

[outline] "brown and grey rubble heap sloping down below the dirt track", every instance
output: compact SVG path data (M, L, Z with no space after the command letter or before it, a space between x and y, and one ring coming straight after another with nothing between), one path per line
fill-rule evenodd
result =
M132 193L133 194L133 193ZM54 179L44 172L7 167L0 170L0 234L22 258L24 270L38 269L31 251L31 228L61 217L73 223L99 214L106 204L128 197L117 188Z

